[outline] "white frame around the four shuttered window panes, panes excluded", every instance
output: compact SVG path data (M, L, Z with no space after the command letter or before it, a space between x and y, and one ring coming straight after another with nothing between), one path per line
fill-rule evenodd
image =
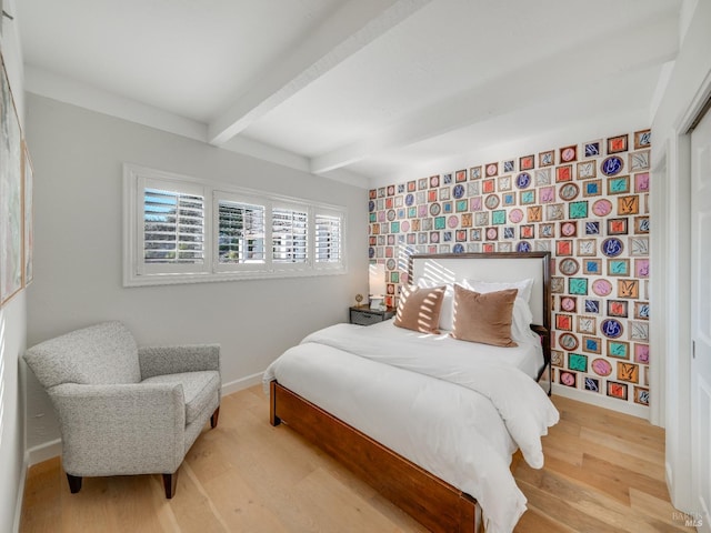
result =
M146 263L144 195L147 184L152 189L203 198L203 262ZM220 201L264 208L264 262L220 263L219 203ZM307 260L304 262L273 261L272 214L274 209L302 210L307 213ZM340 260L320 262L316 259L317 215L340 219ZM346 268L344 207L312 202L210 182L188 175L123 163L123 286L146 286L196 282L218 282L253 279L279 279L322 274L344 274Z

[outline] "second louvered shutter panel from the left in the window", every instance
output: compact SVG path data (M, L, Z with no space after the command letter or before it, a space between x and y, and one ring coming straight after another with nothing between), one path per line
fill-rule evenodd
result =
M263 205L218 202L218 254L221 264L264 262Z

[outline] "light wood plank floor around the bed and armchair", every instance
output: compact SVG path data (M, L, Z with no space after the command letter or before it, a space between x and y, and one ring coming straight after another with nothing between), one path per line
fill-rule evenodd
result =
M603 409L553 398L561 422L545 466L511 465L529 500L517 533L675 532L664 483L664 433ZM261 388L222 400L166 500L159 475L84 479L70 494L58 459L28 473L21 532L423 532L408 515L286 426L268 422Z

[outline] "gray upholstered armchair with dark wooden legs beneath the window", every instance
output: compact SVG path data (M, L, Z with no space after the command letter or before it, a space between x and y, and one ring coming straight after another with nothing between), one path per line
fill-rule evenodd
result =
M220 412L220 346L137 348L121 322L44 341L24 353L59 415L72 493L82 476L163 474L166 497L208 420Z

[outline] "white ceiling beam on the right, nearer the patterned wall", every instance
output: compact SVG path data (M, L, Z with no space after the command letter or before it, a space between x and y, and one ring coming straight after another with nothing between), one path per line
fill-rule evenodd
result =
M629 49L630 42L637 44L634 51ZM313 157L311 172L341 169L368 157L538 102L548 101L554 105L557 95L580 90L605 77L613 80L633 70L662 64L672 60L677 51L675 20L672 18L644 21L625 32L599 36L594 42L562 50L394 121L367 139ZM540 72L549 72L549 76L541 77Z

